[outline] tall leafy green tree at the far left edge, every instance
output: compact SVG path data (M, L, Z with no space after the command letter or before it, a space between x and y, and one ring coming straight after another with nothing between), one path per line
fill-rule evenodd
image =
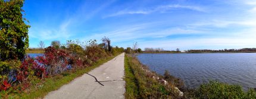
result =
M23 59L29 47L30 25L24 22L23 2L0 0L0 60Z

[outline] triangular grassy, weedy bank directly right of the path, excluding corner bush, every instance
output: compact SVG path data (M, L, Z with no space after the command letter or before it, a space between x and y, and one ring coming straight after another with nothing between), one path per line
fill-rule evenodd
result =
M138 60L125 56L126 98L181 98L171 83L141 65Z

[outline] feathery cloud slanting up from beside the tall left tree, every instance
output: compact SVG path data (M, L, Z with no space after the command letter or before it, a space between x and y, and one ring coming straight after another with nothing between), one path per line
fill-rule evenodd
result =
M113 4L113 2L115 2L115 0L106 2L92 11L87 11L87 4L84 3L80 5L76 11L74 11L74 14L64 14L64 16L62 16L64 20L58 25L55 25L55 27L48 27L48 25L43 24L33 25L33 27L29 30L29 35L30 37L39 40L68 40L71 36L76 35L71 33L71 31L73 31L73 28L70 28L71 25L80 25L85 23L87 20L90 20L90 18L98 14L98 12L102 11L102 9Z

